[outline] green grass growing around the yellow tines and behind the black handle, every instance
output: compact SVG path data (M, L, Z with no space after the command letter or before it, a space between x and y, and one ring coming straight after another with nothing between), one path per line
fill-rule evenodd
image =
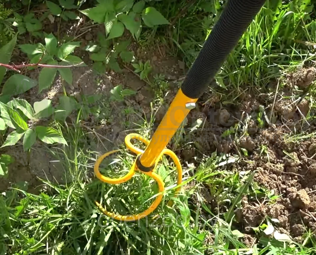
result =
M155 2L155 7L172 26L150 32L145 30L141 44L152 46L153 39L158 40L170 48L171 54L180 55L186 65L191 66L222 11L222 2ZM239 96L246 93L245 86L251 86L257 94L272 95L267 86L271 81L280 78L284 72L314 63L315 12L316 4L310 0L283 1L283 4L281 1L267 1L222 66L216 77L218 86L210 88L208 93L221 95L220 103L223 105L237 104ZM150 84L155 94L152 113L150 118L144 117L143 122L137 124L137 131L148 138L153 131L155 113L168 90L168 83L161 75L156 75ZM298 93L312 98L314 89L313 85L307 93ZM97 109L105 122L111 122L109 107L105 100ZM134 114L131 110L126 107L125 113ZM155 211L155 215L161 217L149 217L148 222L143 219L135 225L108 221L94 201L115 213L137 213L148 208L158 187L141 173L122 185L108 185L94 179L93 165L99 152L94 151L91 143L98 138L88 136L79 118L72 121L72 124L55 123L68 146L47 148L60 161L65 183L42 180L38 194L28 193L24 186L14 184L1 194L0 255L315 253L316 240L310 230L304 235L303 244L281 242L265 236L263 230L267 218L256 230L255 243L251 247L245 244L244 234L240 232L241 223L237 222L235 215L236 209L241 208L242 197L254 200L264 197L268 204L275 203L275 197L271 191L254 182L255 172L234 168L235 163L246 162L241 154L214 152L203 155L202 151L196 155L196 165L182 162L184 181L177 197L174 197L175 168L164 158L157 167L166 184L163 201ZM238 123L222 137L233 135L237 143L240 137L248 135L247 125ZM181 127L173 138L174 150L185 147L185 135L185 128ZM315 133L295 134L288 140L311 137L315 137ZM270 161L267 149L261 145L262 155ZM123 176L134 159L134 155L122 150L102 163L101 171L110 177ZM169 200L174 203L172 207L167 204ZM167 227L163 222L173 225Z

